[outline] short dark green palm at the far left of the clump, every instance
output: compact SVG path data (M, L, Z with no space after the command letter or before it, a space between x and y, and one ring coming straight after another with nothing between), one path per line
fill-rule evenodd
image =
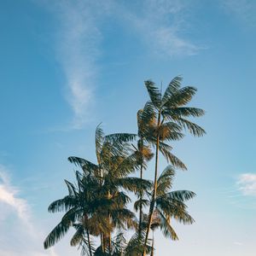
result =
M49 248L57 241L59 241L71 227L75 228L71 245L88 247L89 254L92 256L92 245L90 241L90 234L96 235L98 231L92 224L92 214L94 205L106 204L104 198L96 197L96 190L98 189L98 182L94 177L87 175L86 178L80 173L76 172L77 184L73 184L65 180L68 189L68 195L64 198L54 201L49 205L49 212L65 211L61 222L49 233L44 241L44 248Z

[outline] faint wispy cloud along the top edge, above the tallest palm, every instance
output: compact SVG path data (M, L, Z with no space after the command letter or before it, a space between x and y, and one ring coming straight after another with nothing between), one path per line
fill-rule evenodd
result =
M126 11L139 37L158 55L195 55L201 47L181 34L189 24L188 1L149 0L141 2L140 11Z

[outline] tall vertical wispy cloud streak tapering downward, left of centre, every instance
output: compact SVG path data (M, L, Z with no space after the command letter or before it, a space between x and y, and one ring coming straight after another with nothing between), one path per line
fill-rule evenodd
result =
M55 52L67 79L65 94L74 113L73 128L82 128L90 117L102 39L97 21L108 12L108 2L61 0L45 3L58 19Z

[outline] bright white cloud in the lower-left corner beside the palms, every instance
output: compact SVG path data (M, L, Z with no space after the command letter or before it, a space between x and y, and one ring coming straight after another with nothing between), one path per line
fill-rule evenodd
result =
M42 230L33 223L28 202L20 197L20 190L11 184L9 171L1 165L0 207L1 256L57 256L53 249L44 253Z

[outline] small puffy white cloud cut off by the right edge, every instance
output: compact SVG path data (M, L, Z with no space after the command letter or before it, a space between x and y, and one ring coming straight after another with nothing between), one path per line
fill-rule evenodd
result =
M256 195L256 174L241 174L240 177L238 177L237 185L243 195Z

